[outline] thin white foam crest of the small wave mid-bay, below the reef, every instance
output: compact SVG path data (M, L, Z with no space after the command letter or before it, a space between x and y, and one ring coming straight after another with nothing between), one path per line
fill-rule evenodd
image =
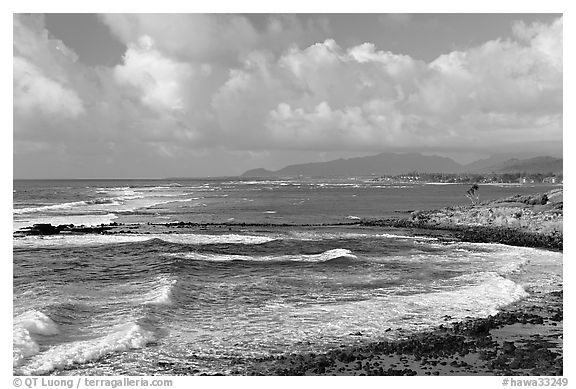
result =
M203 254L203 253L169 253L170 257L184 257L195 261L206 262L230 262L230 261L250 261L250 262L326 262L335 258L357 258L348 249L332 249L320 254L310 255L264 255L249 256L236 254Z

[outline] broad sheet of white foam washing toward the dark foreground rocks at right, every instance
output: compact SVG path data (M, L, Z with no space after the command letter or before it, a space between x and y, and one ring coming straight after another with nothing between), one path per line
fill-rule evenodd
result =
M367 336L382 336L390 327L407 331L430 329L442 323L445 315L454 320L486 317L526 295L520 285L486 273L472 280L472 285L429 293L384 293L367 300L306 306L271 301L270 306L259 308L259 312L282 317L282 327L267 332L267 339L312 338L322 342L325 339L319 339L318 334L325 334L327 329L334 337L349 338L351 332L358 330ZM264 331L267 328L262 328Z

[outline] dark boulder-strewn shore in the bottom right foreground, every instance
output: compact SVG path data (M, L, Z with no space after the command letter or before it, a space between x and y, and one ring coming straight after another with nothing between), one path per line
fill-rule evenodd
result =
M562 291L536 294L482 319L441 324L398 341L256 361L241 375L563 374Z

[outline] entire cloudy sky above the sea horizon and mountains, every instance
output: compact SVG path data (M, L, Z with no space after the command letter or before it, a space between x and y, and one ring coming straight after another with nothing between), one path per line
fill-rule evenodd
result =
M14 14L14 178L562 155L558 14Z

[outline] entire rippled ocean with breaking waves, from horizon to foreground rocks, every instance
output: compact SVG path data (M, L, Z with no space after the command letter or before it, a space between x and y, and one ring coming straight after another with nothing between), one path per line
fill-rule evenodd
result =
M559 252L346 225L466 204L468 185L222 178L13 186L14 231L126 226L15 234L17 375L242 374L260 358L485 317L562 284ZM549 189L481 185L479 194Z

